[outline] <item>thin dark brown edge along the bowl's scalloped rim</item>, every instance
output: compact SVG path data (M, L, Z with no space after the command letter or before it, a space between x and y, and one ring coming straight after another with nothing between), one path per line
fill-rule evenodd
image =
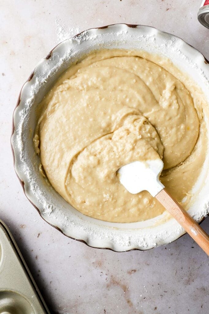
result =
M121 24L121 23L109 24L109 25L105 25L105 26L101 26L101 27L91 28L91 29L88 29L88 30L92 30L92 29L95 29L95 30L96 30L96 29L102 30L102 29L108 28L109 26L118 25L118 24ZM126 25L126 26L128 26L128 27L130 27L130 28L137 28L137 26L148 26L148 25L141 25L141 24L126 24L126 23L122 23L122 24L124 24L124 25ZM148 27L150 27L150 26L148 26ZM158 30L157 28L155 28L155 27L153 27L153 26L151 26L151 27L152 27L153 29ZM88 30L84 30L84 31L78 33L77 35L74 35L72 38L77 38L77 37L79 37L80 35L82 35L84 32L86 32L86 31L88 31ZM165 34L169 34L169 33L164 32L164 31L161 31L161 32L162 32L162 33L165 33ZM172 34L169 34L169 35L172 35ZM184 40L183 40L181 37L179 37L179 36L176 36L176 35L172 35L172 36L175 36L175 37L181 39L182 41L184 41ZM66 40L68 40L68 39L66 39ZM63 41L62 41L62 42L63 42ZM60 43L62 43L62 42L60 42ZM184 42L185 42L185 41L184 41ZM59 43L59 44L60 44L60 43ZM186 42L185 42L185 43L186 43ZM45 57L46 60L48 60L48 59L50 59L50 58L52 57L53 50L54 50L59 44L57 44L57 45L47 54L47 56ZM191 45L188 44L188 43L186 43L186 44L189 45L189 46L191 46ZM191 46L191 47L194 48L196 51L200 52L200 51L199 51L198 49L196 49L194 46ZM200 52L200 53L201 53L201 52ZM202 56L204 57L204 59L205 59L204 62L205 62L206 64L209 64L209 61L206 59L206 57L205 57L202 53L201 53L201 55L202 55ZM30 74L30 76L29 76L29 78L27 79L26 82L29 82L29 81L33 78L34 73L35 73L35 70ZM26 82L25 82L25 83L26 83ZM24 84L25 84L25 83L24 83ZM24 84L23 84L23 86L24 86ZM11 138L10 138L10 144L11 144L11 149L12 149L12 154L13 154L13 165L15 164L15 156L14 156L14 151L13 151L13 146L12 146L12 135L13 135L14 130L15 130L15 127L14 127L14 112L15 112L16 108L17 108L17 107L19 106L19 104L20 104L21 92L22 92L23 86L22 86L22 88L21 88L21 90L20 90L19 97L18 97L18 100L17 100L17 104L16 104L16 106L15 106L15 108L14 108L13 117L12 117L12 134L11 134ZM14 170L15 170L15 169L14 169ZM29 202L35 207L35 209L36 209L36 210L38 211L38 213L40 214L41 218L42 218L44 221L46 221L46 219L44 219L44 218L42 217L39 208L37 208L37 207L35 206L35 204L27 197L27 195L26 195L26 193L25 193L25 189L24 189L24 181L22 181L22 180L19 178L19 176L18 176L16 170L15 170L15 173L16 173L16 175L17 175L19 181L20 181L20 184L21 184L21 186L22 186L22 188L23 188L23 191L24 191L24 194L25 194L26 198L27 198L27 199L29 200ZM207 217L207 216L206 216L206 217ZM199 225L206 219L206 217L203 217L203 218L201 219L201 221L199 222ZM125 250L125 251L115 251L114 249L111 249L111 248L109 248L109 247L90 246L86 241L81 240L81 239L76 239L76 238L73 238L73 237L71 237L71 236L68 236L68 235L66 235L59 227L57 227L56 225L53 225L53 224L49 223L48 221L46 221L46 222L47 222L49 225L51 225L52 227L54 227L55 229L57 229L58 231L60 231L64 236L67 236L68 238L70 238L70 239L72 239L72 240L76 240L76 241L82 242L82 243L86 244L87 246L92 247L92 248L96 248L96 249L110 250L110 251L113 251L113 252L121 253L121 252L131 252L131 251L148 251L148 250L151 250L151 249L157 247L157 246L154 246L154 247L151 247L151 248L146 249L146 250L142 250L142 249L139 249L139 248L133 248L133 249L131 249L131 250ZM175 239L174 241L177 241L178 239L180 239L180 238L181 238L182 236L184 236L185 234L186 234L186 232L185 232L183 235L179 236L179 237L178 237L177 239ZM174 242L174 241L172 241L172 242ZM169 244L169 243L168 243L168 244ZM163 244L163 245L165 246L165 245L168 245L168 244ZM158 246L159 246L159 245L158 245Z

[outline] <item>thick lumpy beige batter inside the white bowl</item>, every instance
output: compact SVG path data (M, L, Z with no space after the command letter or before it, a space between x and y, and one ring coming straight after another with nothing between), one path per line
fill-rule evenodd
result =
M136 51L95 51L41 103L34 137L41 164L55 190L85 215L136 222L163 213L148 192L133 195L121 185L117 170L136 160L163 159L162 183L185 208L190 203L204 161L201 101L172 65L173 74L159 63Z

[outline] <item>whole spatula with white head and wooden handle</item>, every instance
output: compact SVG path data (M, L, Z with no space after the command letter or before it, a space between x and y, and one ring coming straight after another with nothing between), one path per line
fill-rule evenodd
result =
M179 222L196 243L209 255L209 236L198 223L185 211L180 204L166 192L159 180L163 170L160 159L134 161L122 166L119 170L119 180L126 190L132 194L148 191L163 205L163 207Z

